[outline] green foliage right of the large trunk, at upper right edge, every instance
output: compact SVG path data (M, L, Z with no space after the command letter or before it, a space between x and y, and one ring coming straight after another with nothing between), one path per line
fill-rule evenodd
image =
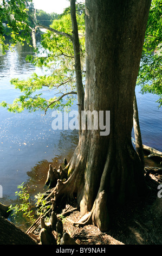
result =
M137 85L142 93L159 96L162 105L162 1L152 0Z

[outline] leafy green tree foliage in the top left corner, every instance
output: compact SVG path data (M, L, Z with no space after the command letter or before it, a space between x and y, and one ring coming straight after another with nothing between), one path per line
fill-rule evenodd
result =
M12 46L20 41L22 44L26 41L28 44L31 39L31 32L35 29L35 19L42 25L49 26L58 14L47 14L42 10L35 10L32 0L1 1L0 6L0 44L2 52L7 50L8 44L5 44L5 37L10 36ZM3 26L5 23L7 26Z

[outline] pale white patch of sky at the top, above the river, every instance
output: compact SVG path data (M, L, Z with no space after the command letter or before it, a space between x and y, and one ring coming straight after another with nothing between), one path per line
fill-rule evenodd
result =
M46 13L63 13L63 9L69 7L68 0L33 0L34 7L46 11Z

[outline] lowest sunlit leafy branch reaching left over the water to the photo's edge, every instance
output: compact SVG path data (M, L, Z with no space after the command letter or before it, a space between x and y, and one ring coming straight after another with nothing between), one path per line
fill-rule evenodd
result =
M18 78L11 80L11 84L15 86L16 89L19 89L23 95L19 96L14 100L12 104L8 104L5 101L0 103L1 107L7 107L9 112L20 113L24 109L28 109L29 112L35 112L37 110L44 111L48 104L54 100L57 100L59 97L51 97L46 99L42 97L43 88L49 87L51 91L53 90L55 82L58 82L59 76L40 76L33 74L28 80L19 81ZM60 82L63 81L63 78L60 78ZM69 81L69 80L67 80ZM64 81L63 81L64 82ZM58 92L57 92L58 93ZM67 97L66 103L63 103L63 100L56 101L50 108L63 108L64 106L72 106L74 97Z

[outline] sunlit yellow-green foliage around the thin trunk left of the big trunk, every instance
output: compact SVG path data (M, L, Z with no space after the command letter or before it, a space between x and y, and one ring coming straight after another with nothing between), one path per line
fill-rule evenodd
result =
M82 5L81 5L82 6ZM84 68L85 57L85 14L77 7L77 21L80 35L80 48L82 58L82 69ZM50 25L56 31L61 31L72 35L72 22L69 9L60 16L60 19L54 20ZM45 111L49 108L63 108L73 105L76 96L69 94L66 101L59 100L62 94L75 91L75 69L74 69L74 51L72 41L63 35L48 31L44 33L41 40L41 47L37 49L36 56L28 56L27 61L48 71L48 75L37 76L33 74L27 80L18 80L14 78L11 84L20 90L22 95L14 100L12 104L2 102L0 106L7 107L10 112L21 112L28 109L29 112L41 109ZM82 73L83 77L85 72ZM51 92L50 99L43 96L44 89ZM55 95L57 93L57 96Z

